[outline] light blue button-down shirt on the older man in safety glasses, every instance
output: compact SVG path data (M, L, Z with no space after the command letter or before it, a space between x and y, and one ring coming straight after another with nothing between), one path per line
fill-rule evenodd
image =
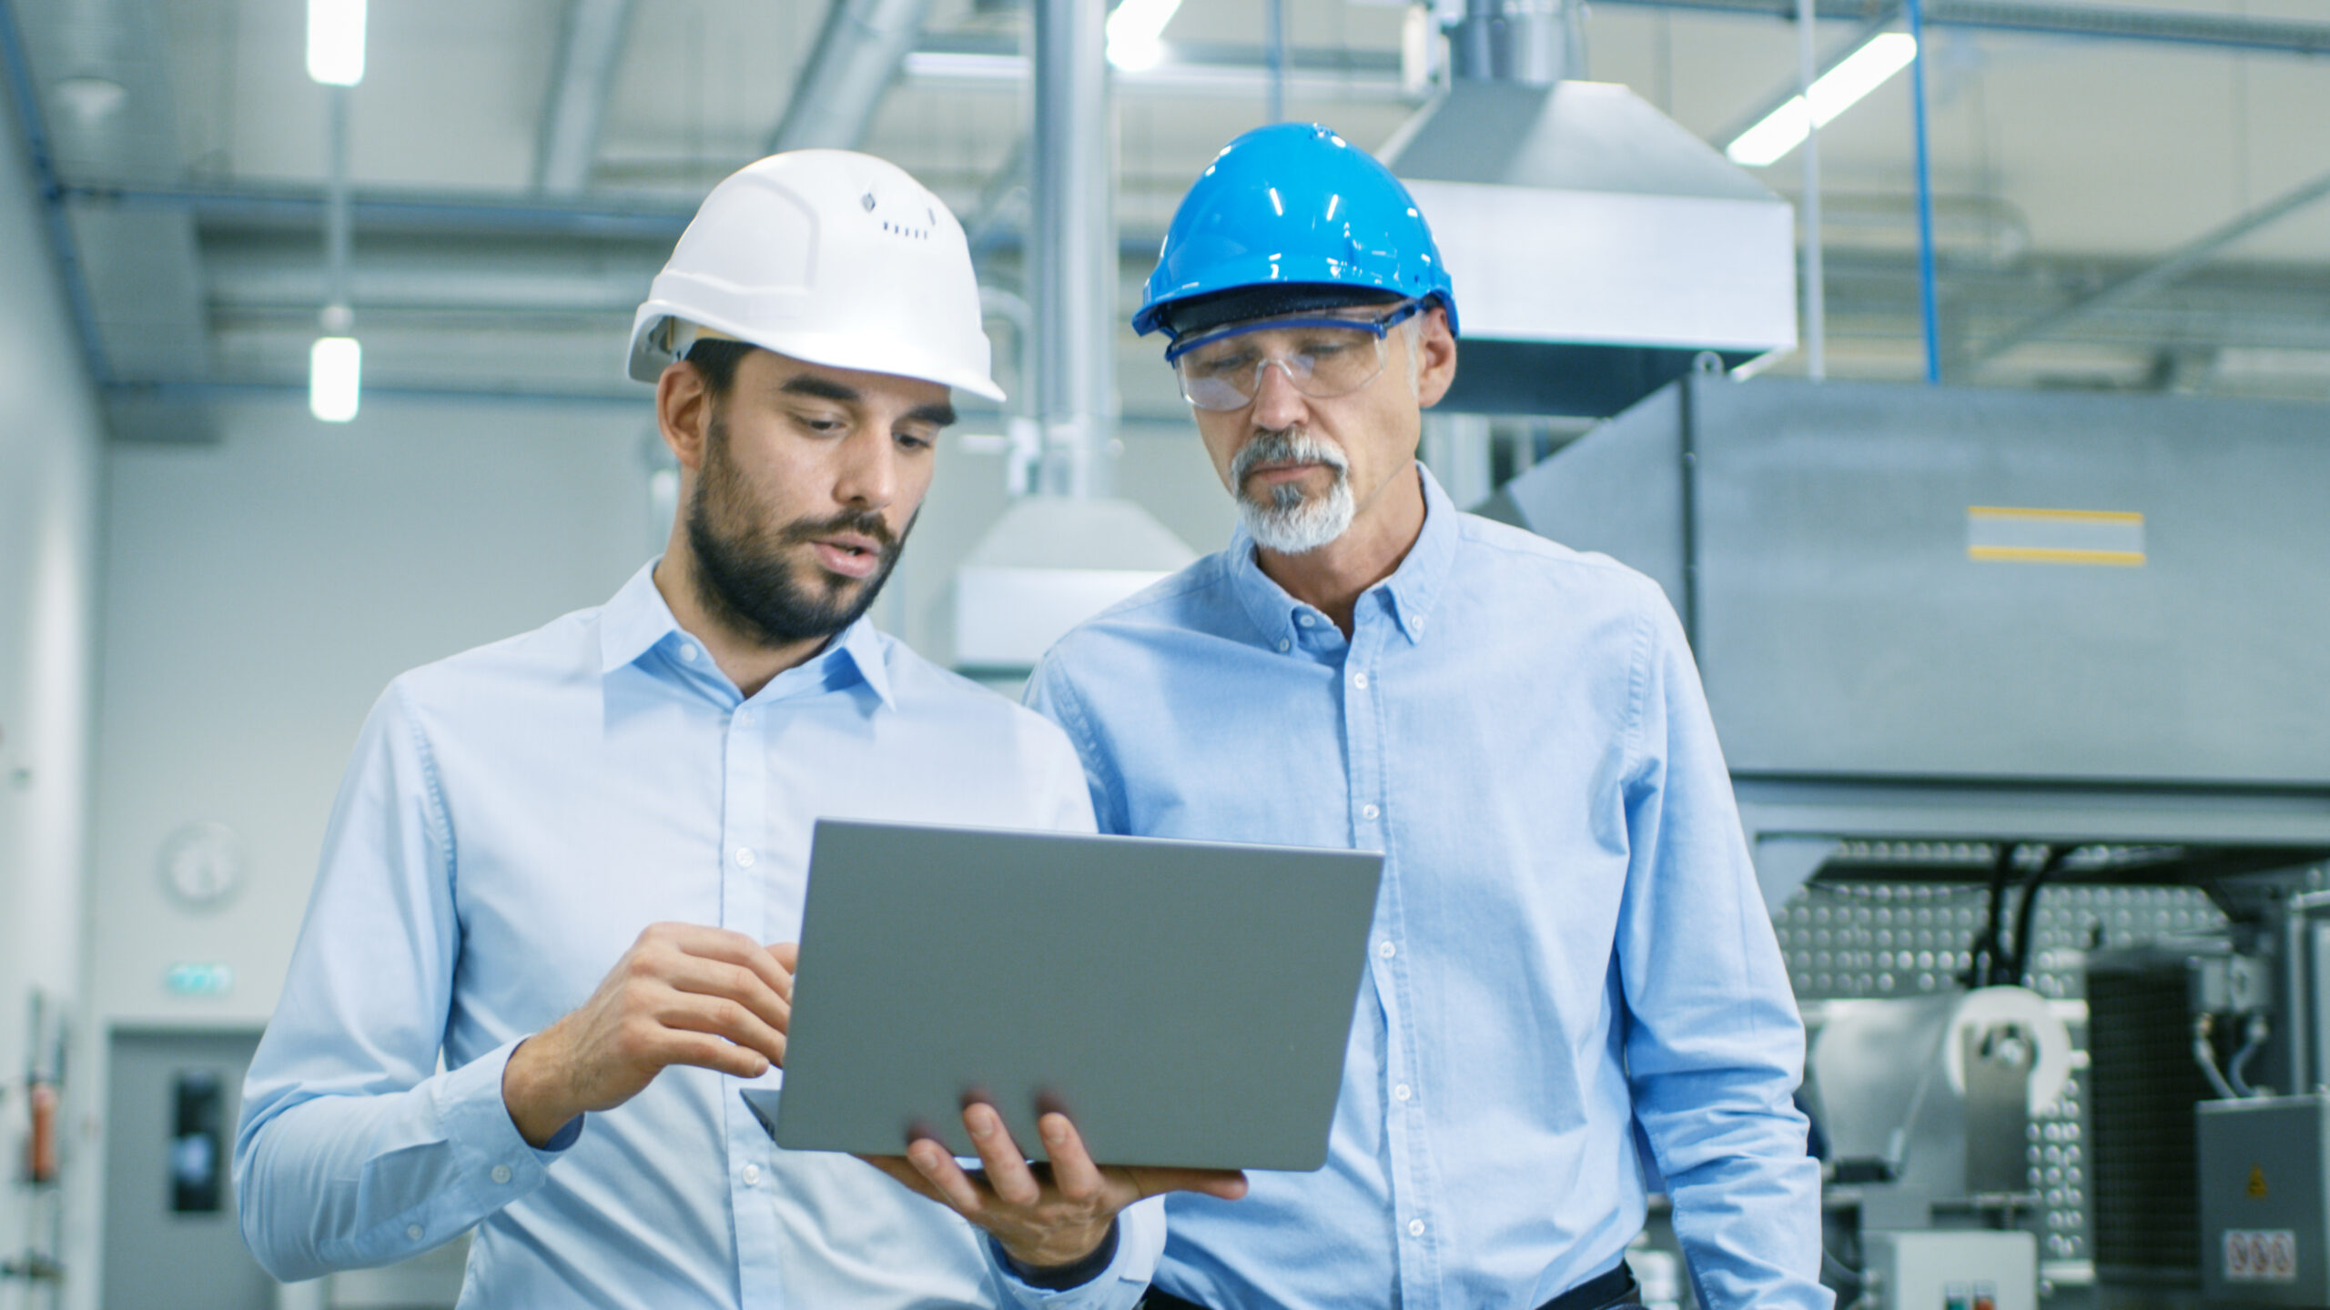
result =
M1640 1126L1703 1303L1824 1310L1803 1028L1675 613L1421 478L1349 641L1240 531L1028 688L1104 832L1384 851L1326 1168L1174 1196L1158 1287L1531 1308L1640 1231Z

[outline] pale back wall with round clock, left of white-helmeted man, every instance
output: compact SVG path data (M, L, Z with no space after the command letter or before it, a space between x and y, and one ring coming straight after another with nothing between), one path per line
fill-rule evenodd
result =
M645 394L645 389L643 389ZM107 487L93 1002L107 1023L275 1007L356 727L398 671L603 601L652 552L645 401L301 399L219 410L219 445L119 445ZM186 909L186 823L242 839L245 886ZM224 965L172 995L170 965Z

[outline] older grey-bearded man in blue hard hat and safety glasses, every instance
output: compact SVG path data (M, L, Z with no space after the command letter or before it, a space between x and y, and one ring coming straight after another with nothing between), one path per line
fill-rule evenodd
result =
M1149 1305L1633 1305L1640 1140L1701 1305L1827 1310L1803 1030L1682 629L1417 464L1456 296L1405 186L1326 128L1230 142L1132 324L1240 529L1028 699L1107 832L1384 851L1326 1168L1172 1198Z

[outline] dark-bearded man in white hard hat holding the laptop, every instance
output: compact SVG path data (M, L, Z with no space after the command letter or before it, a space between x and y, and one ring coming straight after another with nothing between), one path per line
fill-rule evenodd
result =
M294 1280L475 1228L464 1305L1130 1303L1160 1217L1116 1212L1235 1175L1100 1170L1058 1114L1039 1175L988 1107L979 1175L792 1154L736 1096L783 1063L818 818L1090 830L1058 730L862 618L951 387L1002 399L962 228L878 159L764 159L631 375L680 464L662 559L363 727L245 1086L252 1252Z

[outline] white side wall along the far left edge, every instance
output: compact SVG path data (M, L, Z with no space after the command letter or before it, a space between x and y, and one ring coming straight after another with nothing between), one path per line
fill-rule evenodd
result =
M103 429L5 112L0 135L0 1247L16 1256L26 1002L40 986L72 1005L82 979ZM0 1284L0 1308L21 1298Z

